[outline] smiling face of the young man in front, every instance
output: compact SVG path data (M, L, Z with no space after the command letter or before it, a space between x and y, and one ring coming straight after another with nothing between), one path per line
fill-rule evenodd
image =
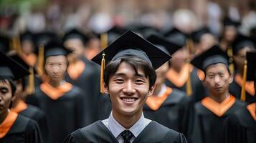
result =
M130 64L122 62L115 74L110 76L105 92L110 94L113 113L119 115L141 114L148 95L153 94L149 79L141 68L138 74Z

